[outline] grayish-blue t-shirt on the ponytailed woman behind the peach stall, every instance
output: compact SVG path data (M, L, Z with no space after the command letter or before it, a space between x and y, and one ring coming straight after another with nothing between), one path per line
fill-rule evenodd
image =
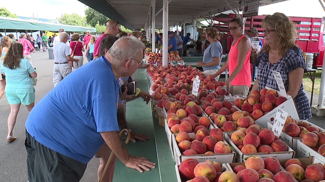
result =
M203 63L210 63L214 59L214 57L220 57L220 63L221 63L221 56L222 56L222 46L219 41L215 41L211 43L204 51L203 54ZM218 65L214 66L202 66L203 71L205 70L214 70L214 69L220 69L220 63Z

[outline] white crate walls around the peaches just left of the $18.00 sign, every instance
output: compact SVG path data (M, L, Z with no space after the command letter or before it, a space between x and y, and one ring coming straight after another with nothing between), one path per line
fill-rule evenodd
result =
M236 162L244 162L246 157L249 156L260 156L263 159L266 157L275 157L278 160L292 159L295 155L295 152L288 146L288 151L286 152L271 152L267 154L266 152L254 153L254 154L243 154L239 148L231 141L231 135L227 134L225 140L234 148L236 152Z

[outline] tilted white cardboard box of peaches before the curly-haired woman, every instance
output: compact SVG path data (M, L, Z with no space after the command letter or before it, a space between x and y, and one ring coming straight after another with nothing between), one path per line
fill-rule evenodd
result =
M266 87L267 89L271 89ZM277 91L278 95L279 95L279 91ZM297 112L297 107L295 105L295 102L292 98L292 96L287 95L288 96L288 100L286 100L285 102L283 102L282 104L280 104L278 107L283 109L284 111L286 111L288 113L288 116L291 116L293 119L299 120L299 114ZM294 107L293 107L294 106ZM255 122L257 124L259 124L260 126L262 126L263 128L267 128L267 122L272 122L275 118L275 115L277 113L277 107L274 108L273 110L271 110L270 112L268 112L266 115L262 116L259 119L256 119Z

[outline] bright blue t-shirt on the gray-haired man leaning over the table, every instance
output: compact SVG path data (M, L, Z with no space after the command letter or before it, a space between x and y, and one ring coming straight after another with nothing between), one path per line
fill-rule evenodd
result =
M25 127L46 147L87 164L104 143L100 132L119 131L118 103L119 83L102 56L73 71L46 94L30 112Z

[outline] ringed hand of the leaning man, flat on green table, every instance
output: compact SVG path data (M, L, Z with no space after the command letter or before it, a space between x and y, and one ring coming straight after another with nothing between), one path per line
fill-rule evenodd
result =
M148 159L146 159L144 157L137 157L137 156L132 156L132 155L130 155L127 162L125 163L126 167L136 169L140 173L143 172L143 169L146 171L150 171L149 168L152 168L152 169L156 168L155 165L156 165L155 163L150 162Z

